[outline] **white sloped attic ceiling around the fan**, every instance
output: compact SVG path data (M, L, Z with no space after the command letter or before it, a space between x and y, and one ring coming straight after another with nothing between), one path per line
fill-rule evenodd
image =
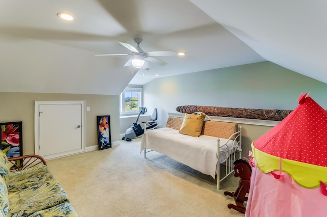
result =
M271 61L327 83L325 1L0 0L0 91L118 95L171 76ZM63 21L67 12L75 21ZM175 50L136 73L131 53ZM149 68L149 70L145 70Z

